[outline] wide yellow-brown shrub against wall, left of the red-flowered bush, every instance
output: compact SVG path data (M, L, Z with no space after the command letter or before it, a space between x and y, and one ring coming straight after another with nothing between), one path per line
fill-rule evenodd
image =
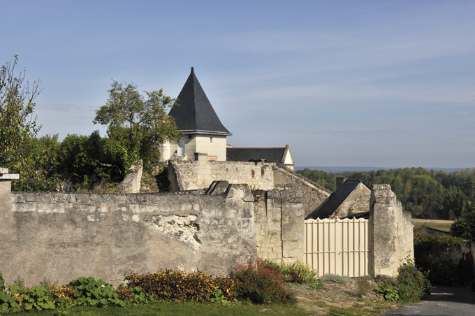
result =
M131 287L141 287L155 299L166 301L208 301L216 288L212 277L200 271L186 273L167 269L145 275L131 273L126 280Z

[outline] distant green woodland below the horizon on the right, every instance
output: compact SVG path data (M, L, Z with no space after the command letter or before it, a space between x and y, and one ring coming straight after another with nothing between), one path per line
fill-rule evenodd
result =
M310 180L336 190L336 178L360 180L370 189L374 184L388 184L413 217L455 220L475 206L475 168L446 173L425 168L397 168L379 171L326 173L297 171Z

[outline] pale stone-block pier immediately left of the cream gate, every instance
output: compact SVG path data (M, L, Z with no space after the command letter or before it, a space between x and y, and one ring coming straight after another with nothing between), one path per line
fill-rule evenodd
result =
M304 259L304 208L298 190L256 192L256 244L259 257L279 263Z

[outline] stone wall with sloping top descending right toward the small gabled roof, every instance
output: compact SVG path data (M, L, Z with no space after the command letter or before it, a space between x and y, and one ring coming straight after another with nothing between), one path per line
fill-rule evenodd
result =
M284 166L277 165L274 168L275 187L285 187L290 184L294 189L302 192L302 203L305 209L305 216L318 208L323 201L332 193L329 189L317 185L315 182L295 173Z

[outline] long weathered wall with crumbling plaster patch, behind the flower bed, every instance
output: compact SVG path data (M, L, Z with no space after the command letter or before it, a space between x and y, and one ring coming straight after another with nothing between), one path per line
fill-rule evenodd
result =
M10 194L10 182L0 182L0 270L27 281L92 275L115 285L130 271L226 274L256 256L253 201L244 185L219 196Z

